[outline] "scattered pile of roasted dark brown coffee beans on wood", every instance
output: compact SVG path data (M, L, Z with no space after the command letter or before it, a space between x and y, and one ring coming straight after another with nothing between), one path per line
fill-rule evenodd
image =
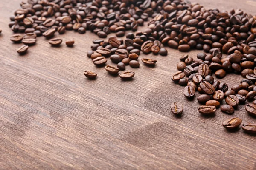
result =
M227 104L221 105L221 111L232 114L239 103L256 96L255 86L252 86L256 82L256 16L241 10L206 10L198 3L186 0L28 0L20 6L21 9L15 11L9 23L15 33L26 33L11 37L13 42L24 44L17 50L20 54L25 54L29 45L34 45L36 37L41 35L50 39L57 31L64 34L65 30L73 29L80 34L90 30L100 38L106 38L111 32L123 37L126 30L137 31L138 26L143 26L144 21L152 18L148 28L137 33L136 37L127 38L124 44L119 43L121 41L116 37L109 37L104 45L96 42L92 46L96 48L96 53L88 51L87 56L97 66L105 65L106 57L111 57L112 62L118 62L117 68L107 65L105 69L110 74L117 74L128 63L131 67L139 67L138 50L145 54L167 53L165 48L160 48L161 44L183 52L204 50L210 54L199 53L197 59L183 56L177 65L179 71L172 77L173 81L186 85L184 95L187 98L193 98L195 91L201 93L198 102L205 104L198 108L201 114L214 113L224 98ZM58 38L49 40L52 46L61 42ZM66 44L73 46L74 42ZM228 56L222 58L222 53ZM142 61L149 66L157 62L145 58ZM246 79L229 90L225 82L214 80L212 72L218 78L235 72ZM97 76L90 71L85 71L84 75L89 78ZM130 79L134 71L125 71L119 76ZM256 116L255 104L245 107L247 113L253 116ZM182 113L181 105L173 103L172 112ZM231 128L240 124L239 118L233 118L224 122L223 126ZM249 133L256 132L256 125L253 124L243 124L242 128Z

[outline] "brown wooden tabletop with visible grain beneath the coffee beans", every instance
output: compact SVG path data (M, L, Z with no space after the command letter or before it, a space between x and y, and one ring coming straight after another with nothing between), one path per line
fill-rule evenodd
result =
M75 46L51 47L44 37L19 56L9 37L9 16L21 0L0 3L0 169L238 169L256 170L256 136L228 132L222 122L233 116L256 122L244 105L230 116L219 109L201 116L196 101L171 81L183 53L168 48L154 68L140 62L124 82L96 68L86 52L96 35L69 31ZM198 0L206 8L241 8L256 14L255 1ZM196 57L198 51L189 52ZM144 55L141 55L142 58ZM149 56L148 56L149 57ZM110 60L108 63L111 63ZM131 69L129 67L126 70ZM84 70L98 73L88 80ZM223 79L228 85L239 75ZM181 117L170 102L184 104Z

